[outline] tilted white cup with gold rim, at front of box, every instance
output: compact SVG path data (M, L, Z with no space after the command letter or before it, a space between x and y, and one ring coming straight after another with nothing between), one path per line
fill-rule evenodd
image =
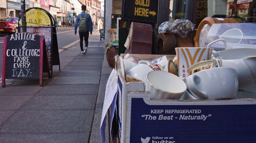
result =
M180 99L187 87L178 76L165 71L147 74L146 91L151 99Z

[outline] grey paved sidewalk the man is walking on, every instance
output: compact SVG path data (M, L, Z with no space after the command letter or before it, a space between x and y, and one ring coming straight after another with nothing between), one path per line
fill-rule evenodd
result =
M61 71L53 66L53 78L44 75L43 87L39 80L15 80L0 88L1 143L101 142L101 111L112 69L98 38L98 32L89 37L87 54L80 54L79 43L59 52Z

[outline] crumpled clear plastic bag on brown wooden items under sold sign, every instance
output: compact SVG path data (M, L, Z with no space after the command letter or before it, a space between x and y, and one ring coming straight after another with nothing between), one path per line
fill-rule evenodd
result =
M189 20L176 19L174 21L165 21L160 24L158 33L178 34L182 38L187 37L189 31L193 31L195 24Z

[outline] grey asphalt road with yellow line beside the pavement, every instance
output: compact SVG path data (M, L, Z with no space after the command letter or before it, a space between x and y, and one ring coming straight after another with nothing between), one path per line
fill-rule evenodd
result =
M4 36L0 35L0 82L2 81ZM74 27L62 28L57 31L57 40L59 51L61 51L62 48L67 48L79 42L79 36L74 34Z

